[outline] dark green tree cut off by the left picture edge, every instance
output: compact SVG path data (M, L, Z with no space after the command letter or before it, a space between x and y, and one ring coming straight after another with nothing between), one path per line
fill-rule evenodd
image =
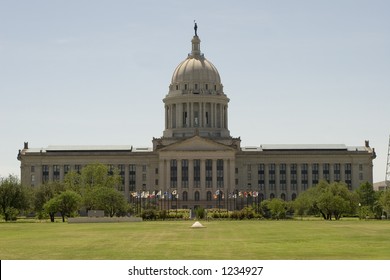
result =
M30 208L31 194L16 176L0 178L0 213L6 221L16 220L21 211Z

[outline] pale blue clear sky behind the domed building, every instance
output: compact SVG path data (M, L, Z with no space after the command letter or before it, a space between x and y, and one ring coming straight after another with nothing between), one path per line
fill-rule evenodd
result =
M242 146L370 140L383 181L389 12L385 0L0 0L0 176L20 175L25 141L151 147L196 20Z

